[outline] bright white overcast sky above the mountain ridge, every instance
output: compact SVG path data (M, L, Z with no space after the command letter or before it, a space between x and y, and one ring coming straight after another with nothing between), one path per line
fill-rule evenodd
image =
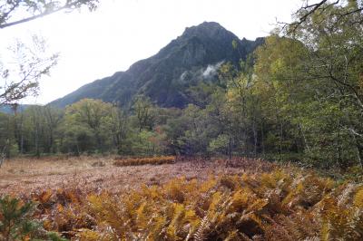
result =
M51 75L41 80L38 97L26 103L47 103L83 84L125 71L157 53L185 27L204 21L220 23L240 38L266 36L279 21L288 22L301 0L100 0L86 10L52 14L0 30L0 53L15 38L41 34L48 50L60 53ZM3 54L4 55L4 54Z

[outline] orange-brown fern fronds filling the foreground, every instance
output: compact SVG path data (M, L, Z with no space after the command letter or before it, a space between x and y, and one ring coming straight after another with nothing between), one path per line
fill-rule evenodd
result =
M39 190L22 199L37 205L32 217L46 231L71 240L361 240L362 185L256 168L259 160L233 165L248 161L255 171L174 178L116 194Z

